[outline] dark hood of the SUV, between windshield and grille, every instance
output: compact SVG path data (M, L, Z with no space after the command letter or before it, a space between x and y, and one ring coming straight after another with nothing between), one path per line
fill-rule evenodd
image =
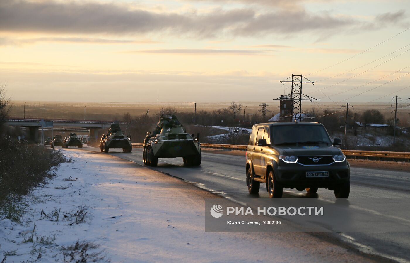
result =
M281 155L340 155L342 150L333 145L305 145L275 147Z

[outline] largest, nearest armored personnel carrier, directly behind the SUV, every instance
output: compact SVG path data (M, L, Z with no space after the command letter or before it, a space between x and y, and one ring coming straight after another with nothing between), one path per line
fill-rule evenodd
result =
M199 134L187 134L174 115L163 114L154 132L147 132L143 143L143 163L157 166L158 158L182 157L184 164L199 166L202 153Z

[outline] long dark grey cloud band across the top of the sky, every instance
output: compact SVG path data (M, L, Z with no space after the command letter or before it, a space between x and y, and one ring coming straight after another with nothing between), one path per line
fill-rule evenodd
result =
M269 1L262 1L269 2ZM286 1L276 1L284 3ZM57 34L160 34L215 38L221 35L292 35L297 32L330 34L336 29L381 27L399 23L405 12L379 14L371 23L349 16L311 14L304 9L257 12L252 7L214 9L205 14L157 13L132 6L98 2L3 0L0 30Z

